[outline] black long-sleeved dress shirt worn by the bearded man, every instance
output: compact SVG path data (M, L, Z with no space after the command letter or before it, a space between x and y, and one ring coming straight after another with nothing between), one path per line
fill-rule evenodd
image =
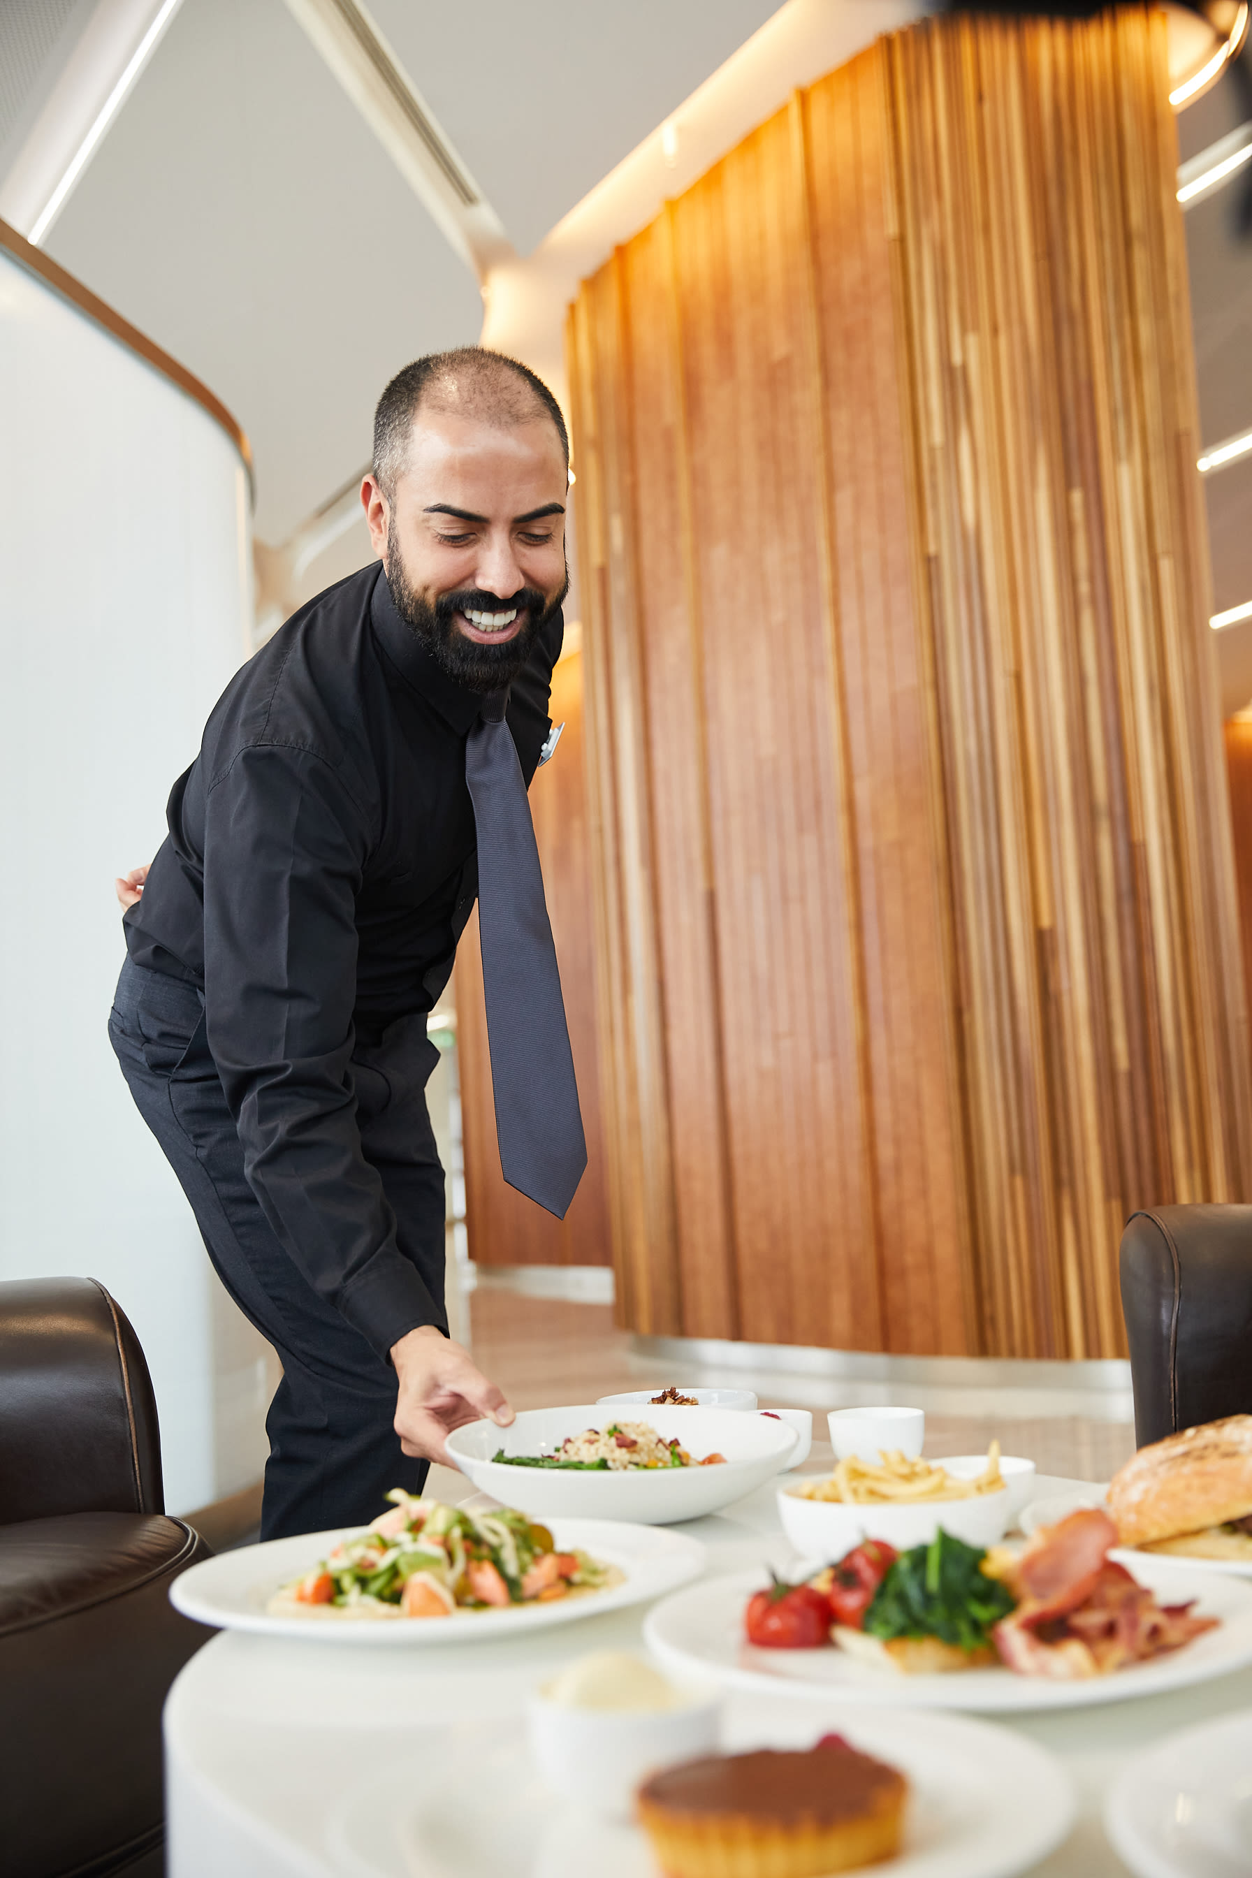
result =
M559 614L509 697L529 785ZM396 612L375 563L231 680L126 913L137 965L205 993L248 1181L310 1283L387 1352L437 1318L362 1155L351 1057L432 1010L477 892L466 736L481 697Z

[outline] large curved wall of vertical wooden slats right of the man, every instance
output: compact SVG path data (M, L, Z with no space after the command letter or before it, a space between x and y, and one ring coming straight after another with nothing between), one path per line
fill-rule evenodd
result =
M933 19L571 310L642 1332L1121 1348L1250 1193L1164 26Z

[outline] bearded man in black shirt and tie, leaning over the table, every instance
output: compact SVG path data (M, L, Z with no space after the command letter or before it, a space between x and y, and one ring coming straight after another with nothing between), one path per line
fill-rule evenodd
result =
M400 372L360 486L381 567L242 667L169 838L118 881L113 1046L283 1363L263 1538L364 1523L450 1429L512 1420L447 1337L426 1012L481 892L501 1162L563 1213L586 1153L524 785L567 485L559 408L524 366L467 347Z

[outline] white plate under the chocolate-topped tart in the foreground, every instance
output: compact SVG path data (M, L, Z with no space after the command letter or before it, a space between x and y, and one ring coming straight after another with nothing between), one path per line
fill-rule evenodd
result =
M884 1878L1010 1878L1046 1857L1074 1820L1070 1778L1023 1735L967 1716L890 1716L826 1703L732 1700L726 1748L807 1748L828 1730L892 1762L912 1786L905 1850ZM563 1805L522 1724L460 1728L445 1754L409 1756L353 1788L330 1820L340 1878L655 1878L648 1840Z

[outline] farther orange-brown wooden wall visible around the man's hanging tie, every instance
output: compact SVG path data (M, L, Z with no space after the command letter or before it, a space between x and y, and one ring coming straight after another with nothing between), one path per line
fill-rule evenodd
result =
M588 1172L565 1219L554 1219L505 1183L496 1144L492 1059L482 1005L479 915L471 916L456 954L456 1057L460 1067L466 1153L466 1230L469 1256L484 1266L612 1264L599 1052L595 1042L595 939L582 654L573 652L552 674L554 723L565 723L552 762L531 783L531 819L544 873L548 918L561 967L565 1018L574 1052L578 1102L588 1138Z

